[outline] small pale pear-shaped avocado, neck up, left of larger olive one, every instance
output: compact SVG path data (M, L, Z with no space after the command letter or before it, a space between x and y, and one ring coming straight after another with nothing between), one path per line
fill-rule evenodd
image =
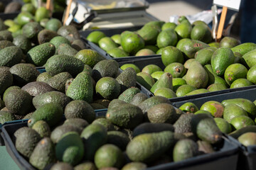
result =
M156 81L156 83L151 87L150 91L152 93L155 93L158 89L161 89L163 87L173 89L172 75L169 72L165 72L164 74L162 74L159 80Z

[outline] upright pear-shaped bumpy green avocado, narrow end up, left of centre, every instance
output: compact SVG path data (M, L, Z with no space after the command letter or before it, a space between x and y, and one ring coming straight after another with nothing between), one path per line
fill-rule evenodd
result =
M66 95L73 100L83 100L92 103L93 86L92 78L87 72L81 72L68 86Z

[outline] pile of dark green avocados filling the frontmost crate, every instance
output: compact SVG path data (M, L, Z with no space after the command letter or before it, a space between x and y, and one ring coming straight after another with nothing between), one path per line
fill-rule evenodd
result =
M63 113L85 117L63 120ZM36 169L142 170L223 147L212 116L184 113L161 96L123 95L95 117L85 101L46 103L14 132L16 149Z

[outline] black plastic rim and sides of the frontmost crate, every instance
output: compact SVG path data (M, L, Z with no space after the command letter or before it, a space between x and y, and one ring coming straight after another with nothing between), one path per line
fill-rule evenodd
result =
M20 169L35 169L31 164L24 159L21 154L18 153L14 145L14 132L18 128L26 126L26 121L23 123L14 123L10 125L3 126L3 132L1 135L4 137L6 142L6 150L10 156L14 159L14 162L18 165ZM211 154L204 154L198 157L193 157L191 159L184 160L182 162L170 162L167 164L161 164L158 166L152 166L147 170L166 170L166 169L197 169L197 170L235 170L236 163L238 161L238 146L230 142L229 137L223 137L224 144L223 147Z

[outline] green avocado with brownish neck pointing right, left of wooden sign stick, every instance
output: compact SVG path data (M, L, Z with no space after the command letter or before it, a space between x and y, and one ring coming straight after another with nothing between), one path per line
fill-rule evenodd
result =
M181 50L181 52L183 52L188 58L192 59L195 57L196 52L203 48L209 47L209 45L199 40L183 38L178 41L176 47L178 50Z

